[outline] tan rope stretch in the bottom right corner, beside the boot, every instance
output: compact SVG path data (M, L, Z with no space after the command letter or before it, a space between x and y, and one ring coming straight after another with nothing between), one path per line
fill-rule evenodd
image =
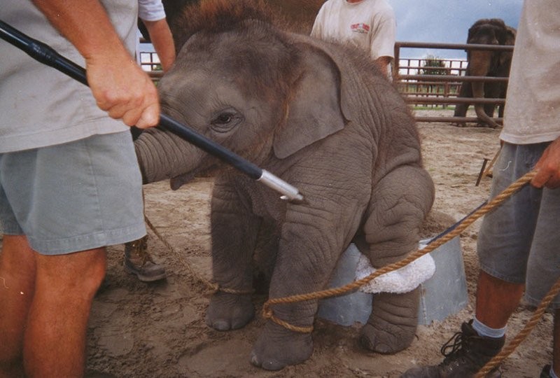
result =
M540 317L542 316L542 314L545 313L548 305L550 304L550 302L552 302L554 297L556 297L559 291L560 291L560 278L556 280L556 283L554 283L552 288L550 288L547 295L545 295L545 297L542 298L537 309L535 309L533 316L531 316L531 319L526 323L525 327L514 337L514 339L512 339L510 344L507 344L507 346L504 349L502 349L500 353L496 354L496 356L494 356L491 360L489 360L489 362L486 363L486 365L484 365L479 370L479 372L477 372L476 374L477 378L486 377L486 374L488 374L494 367L500 365L502 361L505 360L507 356L510 356L510 354L517 348L517 346L521 344L521 342L524 342L524 340L531 333L533 328L535 328L535 325L538 324L538 322L540 321Z

